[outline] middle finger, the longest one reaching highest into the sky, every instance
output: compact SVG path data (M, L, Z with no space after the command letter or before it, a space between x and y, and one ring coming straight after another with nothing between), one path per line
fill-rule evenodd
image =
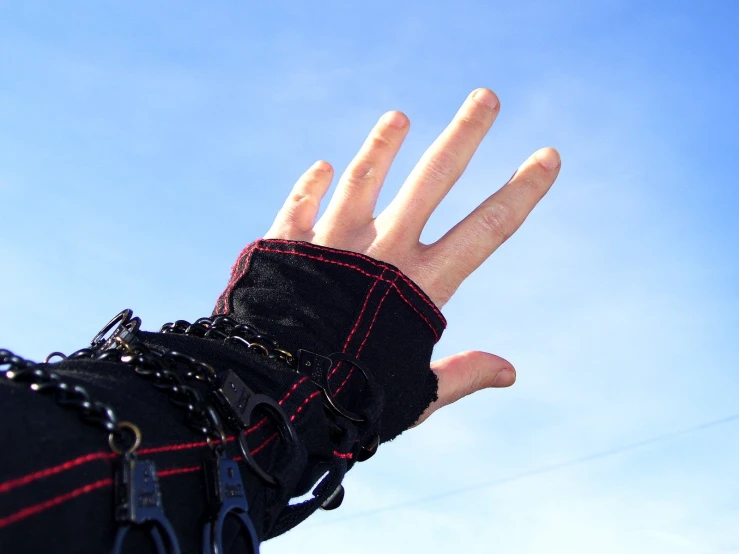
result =
M498 115L498 97L477 89L424 153L378 223L418 241L426 221L464 172ZM392 232L392 231L390 231Z

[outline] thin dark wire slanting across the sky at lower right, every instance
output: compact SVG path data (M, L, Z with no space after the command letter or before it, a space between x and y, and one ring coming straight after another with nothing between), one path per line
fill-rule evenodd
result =
M381 506L379 508L373 508L371 510L365 510L363 512L357 512L356 514L347 515L342 518L338 519L331 519L327 521L317 522L310 525L307 525L305 528L310 529L311 527L320 527L323 525L335 525L338 523L343 523L344 521L350 520L350 519L356 519L358 517L367 517L371 515L376 515L382 512L389 512L391 510L397 510L400 508L406 508L408 506L415 506L417 504L425 504L427 502L433 502L434 500L440 500L442 498L447 498L450 496L455 496L458 494L464 494L466 492L472 492L480 489L485 488L491 488L491 487L497 487L500 485L505 485L508 483L512 483L514 481L521 481L523 479L527 479L529 477L535 477L537 475L541 475L542 473L550 473L552 471L558 471L560 469L564 469L566 467L571 467L574 465L583 464L585 462L590 462L593 460L597 460L600 458L606 458L609 456L615 456L617 454L621 454L623 452L628 452L629 450L635 450L637 448L642 448L644 446L648 446L650 444L655 444L658 442L666 441L674 437L678 437L680 435L687 435L690 433L697 433L699 431L704 431L706 429L709 429L711 427L716 427L718 425L725 425L727 423L731 423L732 421L739 420L739 413L733 414L730 416L726 416L720 419L714 419L712 421L708 421L705 423L701 423L699 425L695 425L693 427L688 427L686 429L680 429L678 431L672 431L669 433L663 433L661 435L657 435L656 437L652 437L649 439L641 440L632 442L623 446L617 446L614 448L610 448L608 450L601 450L600 452L596 452L594 454L588 454L586 456L581 456L579 458L572 458L570 460L566 460L563 462L558 462L555 464L550 464L546 466L541 466L535 469L531 469L529 471L524 471L521 473L516 473L514 475L509 475L506 477L501 477L499 479L493 479L492 481L484 481L482 483L477 483L474 485L468 485L466 487L461 487L458 489L452 489L449 491L441 492L439 494L434 494L432 496L425 496L423 498L416 498L414 500L407 500L405 502L399 502L397 504L390 504L388 506Z

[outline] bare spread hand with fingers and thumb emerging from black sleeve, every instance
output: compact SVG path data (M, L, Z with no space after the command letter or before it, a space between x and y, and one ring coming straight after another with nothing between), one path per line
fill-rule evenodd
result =
M298 180L265 238L312 242L391 263L413 279L441 308L459 285L524 222L557 178L557 151L535 152L500 190L433 244L420 242L429 217L464 172L500 108L490 90L470 94L449 126L424 153L398 195L377 217L375 204L410 123L400 112L380 118L341 176L316 222L331 184L332 167L316 162ZM438 360L439 399L418 423L440 407L487 387L516 380L513 366L486 352Z

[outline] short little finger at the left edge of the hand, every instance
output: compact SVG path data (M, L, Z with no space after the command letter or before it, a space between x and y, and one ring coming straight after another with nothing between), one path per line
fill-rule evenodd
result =
M264 238L298 238L313 229L333 172L331 164L317 161L303 173Z

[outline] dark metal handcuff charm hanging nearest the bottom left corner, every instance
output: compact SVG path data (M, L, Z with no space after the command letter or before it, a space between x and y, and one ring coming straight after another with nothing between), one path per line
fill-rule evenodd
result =
M164 515L156 464L153 460L138 460L126 452L115 479L116 520L120 523L115 535L113 554L122 552L128 531L144 526L157 549L157 554L180 554L172 524ZM165 542L166 539L166 542Z

